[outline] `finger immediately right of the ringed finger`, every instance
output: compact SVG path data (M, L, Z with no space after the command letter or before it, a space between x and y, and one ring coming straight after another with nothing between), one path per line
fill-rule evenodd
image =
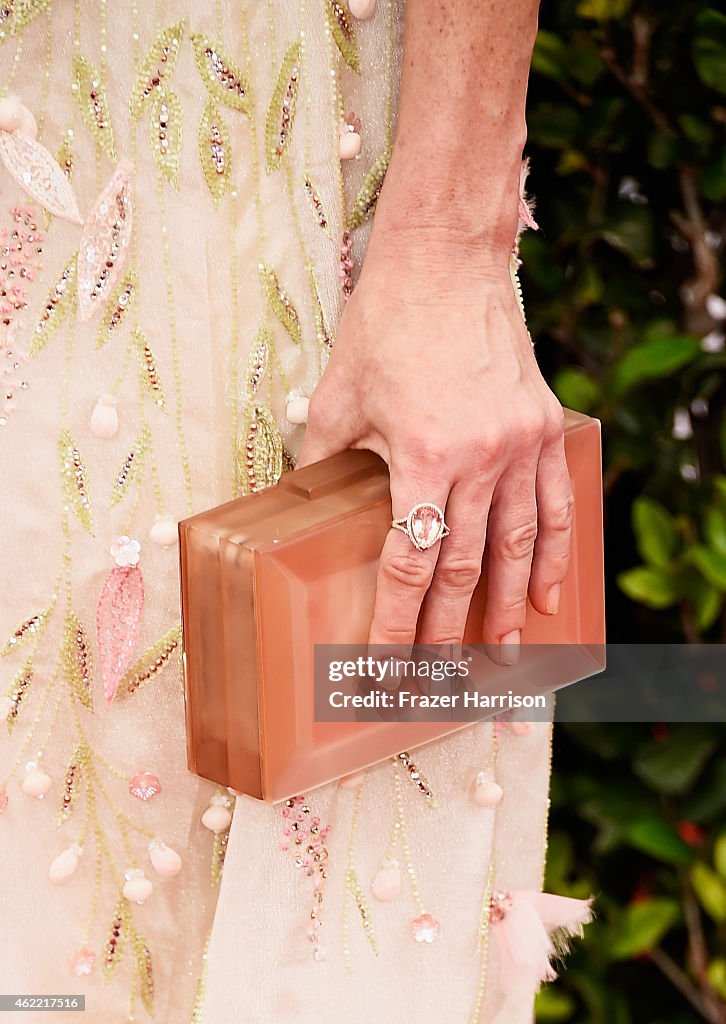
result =
M441 550L419 624L420 643L459 644L481 574L493 484L483 477L456 483L446 503L451 537Z

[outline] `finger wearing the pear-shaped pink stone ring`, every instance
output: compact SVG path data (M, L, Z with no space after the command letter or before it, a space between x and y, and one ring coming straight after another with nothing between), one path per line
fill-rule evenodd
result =
M403 518L422 502L442 509L449 483L425 478L416 467L391 467L393 518ZM445 540L443 541L445 544ZM418 551L405 534L391 529L383 545L376 583L376 601L369 643L410 647L416 639L416 624L431 583L441 542Z

